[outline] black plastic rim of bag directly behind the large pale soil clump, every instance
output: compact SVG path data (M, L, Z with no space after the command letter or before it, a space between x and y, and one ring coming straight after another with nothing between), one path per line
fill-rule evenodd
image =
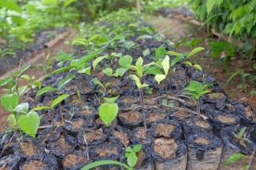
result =
M181 139L182 135L182 129L180 126L180 123L177 121L172 121L172 120L158 120L155 121L151 127L150 127L150 134L154 136L154 138L160 137L159 133L155 132L155 129L158 127L159 124L164 124L164 125L174 125L175 128L173 129L173 132L171 132L169 135L165 136L166 138L171 138L173 137L174 139Z

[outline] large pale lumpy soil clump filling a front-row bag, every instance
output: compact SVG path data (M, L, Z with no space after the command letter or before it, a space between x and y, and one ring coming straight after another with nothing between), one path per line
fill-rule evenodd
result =
M154 140L154 151L164 159L176 157L177 147L173 138L160 137Z

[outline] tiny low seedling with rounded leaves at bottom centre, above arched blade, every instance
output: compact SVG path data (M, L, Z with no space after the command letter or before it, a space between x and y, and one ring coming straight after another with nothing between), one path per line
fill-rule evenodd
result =
M133 148L131 148L131 146L126 147L125 149L126 153L124 154L124 157L127 159L127 163L131 168L133 168L138 161L136 152L139 152L139 150L141 150L142 148L143 148L142 144L137 144L133 146Z

